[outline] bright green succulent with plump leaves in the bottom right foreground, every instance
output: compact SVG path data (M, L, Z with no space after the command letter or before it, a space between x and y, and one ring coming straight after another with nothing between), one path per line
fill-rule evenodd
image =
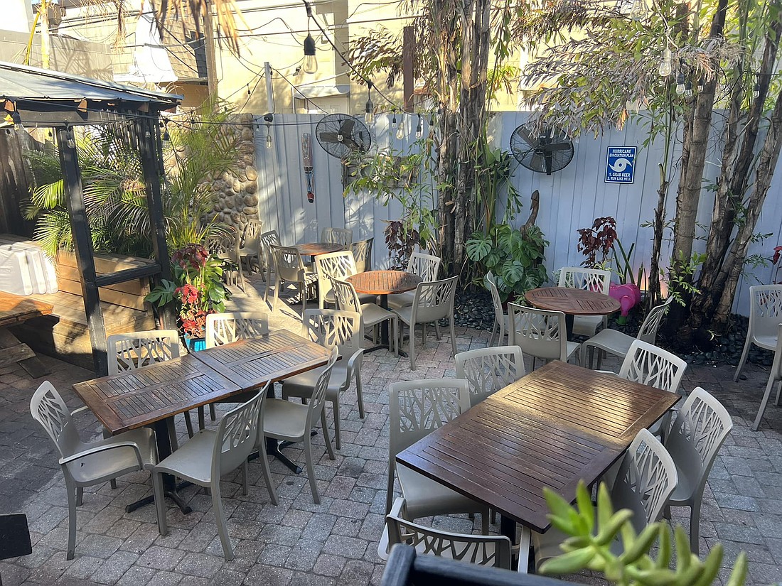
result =
M576 573L594 570L619 586L708 586L717 580L723 560L723 546L712 546L701 562L690 549L690 540L676 526L671 537L668 523L650 523L637 534L630 520L630 509L614 511L608 488L601 482L597 489L597 507L583 481L576 488L576 507L558 493L543 488L551 524L569 537L562 543L561 556L540 566L544 574ZM622 553L615 555L612 544L621 539ZM656 559L651 557L657 545ZM674 557L675 554L675 557ZM741 552L727 581L741 586L747 576L747 554Z

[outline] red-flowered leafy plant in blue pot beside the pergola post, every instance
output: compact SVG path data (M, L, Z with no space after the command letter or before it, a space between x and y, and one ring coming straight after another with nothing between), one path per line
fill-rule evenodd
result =
M231 296L223 284L223 272L230 264L210 255L202 245L186 245L171 255L175 281L163 279L145 299L158 307L176 303L181 331L191 338L203 338L206 316L223 312Z

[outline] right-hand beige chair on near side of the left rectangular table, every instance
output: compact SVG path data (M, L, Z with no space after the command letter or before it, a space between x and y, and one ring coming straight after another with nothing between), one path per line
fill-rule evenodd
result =
M317 481L312 459L312 440L310 431L314 429L317 419L321 419L323 439L326 442L326 452L329 459L335 459L332 441L328 438L328 423L323 409L328 390L328 377L331 376L332 367L336 362L339 352L332 348L332 356L315 381L312 394L307 405L285 401L282 398L270 398L266 406L264 416L264 435L278 441L303 441L304 458L307 461L307 477L310 479L310 490L316 505L321 504L321 496L317 493ZM264 444L259 444L259 450L265 450Z

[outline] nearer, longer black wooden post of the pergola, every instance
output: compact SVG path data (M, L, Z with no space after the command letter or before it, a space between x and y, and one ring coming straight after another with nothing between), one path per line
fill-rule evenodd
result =
M100 376L108 373L106 363L106 325L100 308L98 286L95 284L95 258L92 250L90 227L84 208L84 192L81 190L74 131L69 127L57 129L59 163L65 180L66 202L70 215L70 230L76 249L76 263L81 273L81 295L84 298L84 312L87 313L87 327L92 343L92 360L95 372Z

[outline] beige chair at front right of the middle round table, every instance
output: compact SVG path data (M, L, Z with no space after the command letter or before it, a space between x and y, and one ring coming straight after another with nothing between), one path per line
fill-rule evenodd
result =
M415 370L415 326L421 324L421 348L426 342L426 324L434 322L437 339L440 339L439 320L448 318L450 327L451 355L456 355L456 332L454 331L454 298L457 277L443 280L422 281L415 288L413 305L394 309L399 317L399 341L404 341L404 324L410 327L410 370Z

